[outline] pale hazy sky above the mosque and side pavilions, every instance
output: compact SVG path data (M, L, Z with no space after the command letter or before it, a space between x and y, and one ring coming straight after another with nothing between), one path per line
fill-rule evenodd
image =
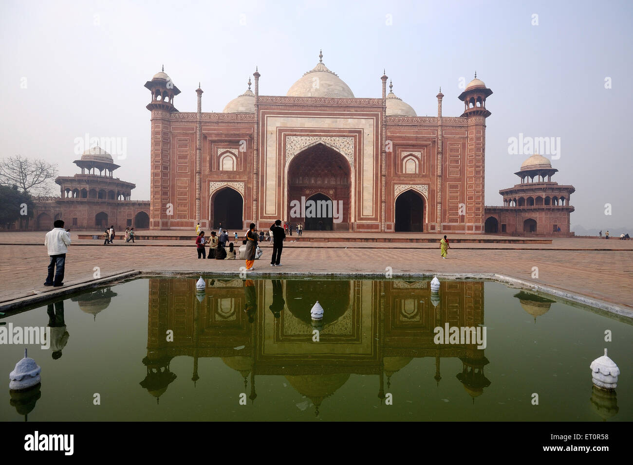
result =
M45 158L73 175L75 138L126 138L115 173L136 183L132 199L149 199L143 85L163 63L182 91L180 111L196 110L198 82L203 111L222 111L255 65L260 94L285 95L322 47L323 63L354 96L380 97L386 68L394 93L419 116L437 114L440 85L444 116L461 115L460 78L477 70L494 92L486 204L502 204L498 190L518 182L513 173L528 156L510 154L508 138L560 137L553 180L576 188L572 228L631 227L632 5L3 0L0 157Z

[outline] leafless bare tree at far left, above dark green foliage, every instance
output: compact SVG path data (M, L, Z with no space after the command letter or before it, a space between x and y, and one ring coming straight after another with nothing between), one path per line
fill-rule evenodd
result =
M0 160L0 185L16 185L22 192L41 197L51 195L57 164L16 155Z

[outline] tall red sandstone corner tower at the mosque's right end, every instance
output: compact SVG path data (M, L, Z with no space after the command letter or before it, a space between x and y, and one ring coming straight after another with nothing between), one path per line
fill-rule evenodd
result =
M482 80L475 78L461 92L464 113L468 118L468 145L466 151L465 232L484 232L484 170L486 168L486 98L492 90Z

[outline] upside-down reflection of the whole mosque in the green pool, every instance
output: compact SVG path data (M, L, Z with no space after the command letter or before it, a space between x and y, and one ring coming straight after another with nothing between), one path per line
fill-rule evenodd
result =
M147 376L141 385L157 398L176 378L170 361L183 355L193 358L194 383L199 357L222 357L245 388L250 381L251 400L256 375L283 375L317 413L352 373L377 375L377 394L384 399L392 375L417 357L435 359L437 383L442 357L458 357L463 369L456 378L473 402L490 385L484 350L433 340L434 328L445 323L483 325L483 282L442 282L437 296L421 281L206 280L204 299L196 299L194 284L149 280ZM316 301L325 309L319 342L313 342L317 326L310 318ZM169 329L174 342L166 341Z

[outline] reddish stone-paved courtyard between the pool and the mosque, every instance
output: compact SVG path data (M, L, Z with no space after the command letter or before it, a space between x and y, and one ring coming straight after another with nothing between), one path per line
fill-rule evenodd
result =
M44 232L0 233L0 302L51 292L43 286L47 254ZM315 233L316 234L316 233ZM453 236L456 237L456 236ZM461 236L461 237L472 237ZM291 240L291 238L289 238ZM244 261L198 260L193 245L182 240L79 240L66 256L65 286L131 270L237 273ZM443 260L437 244L364 242L287 242L282 267L270 267L270 243L255 262L261 273L499 273L586 295L633 311L633 242L617 239L553 239L552 244L454 244ZM532 278L532 268L539 277Z

